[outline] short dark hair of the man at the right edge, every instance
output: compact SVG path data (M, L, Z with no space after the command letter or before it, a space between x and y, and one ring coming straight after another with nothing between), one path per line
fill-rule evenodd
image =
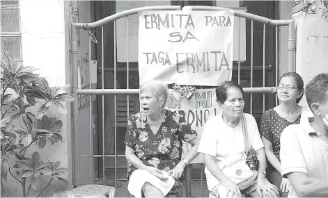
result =
M328 73L318 74L306 85L305 97L310 108L313 103L325 104L327 102Z

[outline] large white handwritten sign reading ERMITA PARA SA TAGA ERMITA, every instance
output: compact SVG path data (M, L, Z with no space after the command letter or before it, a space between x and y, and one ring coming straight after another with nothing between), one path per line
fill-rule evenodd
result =
M151 79L210 86L230 81L233 22L232 11L140 12L140 85Z

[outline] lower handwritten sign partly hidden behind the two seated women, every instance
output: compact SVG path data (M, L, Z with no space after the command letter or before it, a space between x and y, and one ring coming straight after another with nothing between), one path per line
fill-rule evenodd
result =
M166 109L175 111L185 117L198 135L202 135L206 121L221 113L216 101L215 89L203 89L194 91L192 98L181 97L176 90L169 90ZM182 158L192 148L187 142L183 142ZM192 163L204 163L203 154L199 154Z

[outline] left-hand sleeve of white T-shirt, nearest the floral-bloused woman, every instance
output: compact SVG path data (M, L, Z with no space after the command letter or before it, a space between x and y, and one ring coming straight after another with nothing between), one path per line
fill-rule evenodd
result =
M215 117L208 119L206 122L203 134L201 135L201 142L198 145L198 152L208 154L210 156L217 156L217 131L218 125L215 122Z

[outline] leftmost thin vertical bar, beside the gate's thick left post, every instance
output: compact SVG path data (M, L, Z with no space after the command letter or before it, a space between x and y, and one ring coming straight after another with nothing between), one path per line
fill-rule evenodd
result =
M92 63L92 61L91 61L91 37L89 36L89 89L91 89L91 64ZM92 100L91 100L91 98L92 98L92 94L90 94L90 95L88 95L88 97L89 97L89 124L90 124L90 126L89 126L89 129L90 129L90 131L89 131L89 133L90 133L90 137L89 137L89 139L90 139L90 142L89 142L89 145L90 145L90 184L93 184L93 165L92 165L92 161L93 161L93 156L92 156L92 154L93 154L93 151L92 151L92 142L93 142L93 133L92 133Z

